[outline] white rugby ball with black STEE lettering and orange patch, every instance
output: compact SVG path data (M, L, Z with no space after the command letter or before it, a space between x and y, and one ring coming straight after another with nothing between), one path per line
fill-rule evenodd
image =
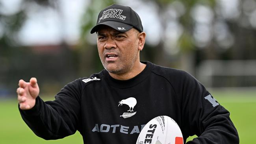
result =
M169 116L157 116L141 130L136 144L184 144L178 124Z

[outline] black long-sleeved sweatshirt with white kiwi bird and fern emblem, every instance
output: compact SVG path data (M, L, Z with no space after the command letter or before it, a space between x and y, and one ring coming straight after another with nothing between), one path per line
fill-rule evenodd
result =
M187 144L239 144L230 113L193 76L150 62L129 80L113 79L106 70L67 84L30 110L20 110L26 124L46 140L78 130L84 144L135 144L152 118L166 115L180 126Z

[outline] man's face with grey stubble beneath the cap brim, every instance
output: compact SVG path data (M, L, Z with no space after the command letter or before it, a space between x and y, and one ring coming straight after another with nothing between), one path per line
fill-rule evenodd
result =
M134 28L126 32L117 31L109 26L101 26L98 29L98 53L102 65L108 72L132 72L139 63L138 34L139 31Z

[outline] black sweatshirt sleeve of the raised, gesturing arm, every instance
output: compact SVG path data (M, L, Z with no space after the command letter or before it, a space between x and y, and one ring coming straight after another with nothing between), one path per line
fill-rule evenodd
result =
M44 102L39 96L30 110L21 110L26 124L45 140L59 139L79 130L81 85L79 80L67 84L54 101Z

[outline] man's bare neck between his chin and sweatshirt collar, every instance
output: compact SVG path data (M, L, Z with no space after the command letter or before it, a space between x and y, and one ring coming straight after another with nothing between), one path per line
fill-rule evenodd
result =
M134 68L134 70L131 70L130 72L126 72L124 74L113 74L109 72L109 75L118 80L128 80L131 78L134 78L137 76L139 73L141 73L145 69L146 65L144 63L139 63L139 65Z

